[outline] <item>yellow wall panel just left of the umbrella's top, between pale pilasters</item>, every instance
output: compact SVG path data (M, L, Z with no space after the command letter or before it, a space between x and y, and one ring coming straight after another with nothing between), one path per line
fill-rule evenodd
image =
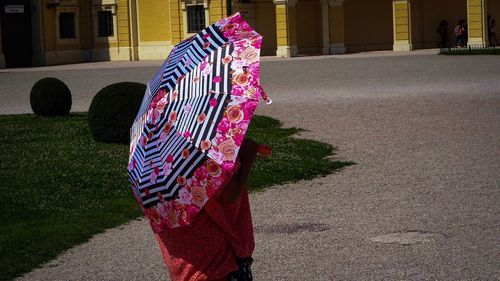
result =
M140 42L169 41L171 35L168 1L137 1Z

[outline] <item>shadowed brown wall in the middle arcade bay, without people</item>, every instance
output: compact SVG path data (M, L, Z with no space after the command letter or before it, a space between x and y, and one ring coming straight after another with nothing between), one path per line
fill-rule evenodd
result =
M392 50L392 0L345 0L347 52Z

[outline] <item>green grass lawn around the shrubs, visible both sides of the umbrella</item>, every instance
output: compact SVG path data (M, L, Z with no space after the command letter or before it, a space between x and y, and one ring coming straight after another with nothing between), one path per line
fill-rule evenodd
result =
M269 144L254 190L327 175L352 164L332 146L295 139L300 129L256 116L249 136ZM47 262L92 235L141 216L128 188L128 145L96 143L86 114L0 116L0 280Z

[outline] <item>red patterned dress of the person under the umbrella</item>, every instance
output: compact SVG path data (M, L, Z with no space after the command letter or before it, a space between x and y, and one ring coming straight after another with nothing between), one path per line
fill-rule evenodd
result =
M172 281L227 280L236 257L255 248L248 192L224 205L209 200L189 226L156 234Z

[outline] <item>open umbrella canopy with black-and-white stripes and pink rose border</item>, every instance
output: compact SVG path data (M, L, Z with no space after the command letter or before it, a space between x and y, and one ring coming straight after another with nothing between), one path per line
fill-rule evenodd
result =
M262 36L240 14L181 42L149 81L128 175L153 231L189 224L230 180L261 98Z

